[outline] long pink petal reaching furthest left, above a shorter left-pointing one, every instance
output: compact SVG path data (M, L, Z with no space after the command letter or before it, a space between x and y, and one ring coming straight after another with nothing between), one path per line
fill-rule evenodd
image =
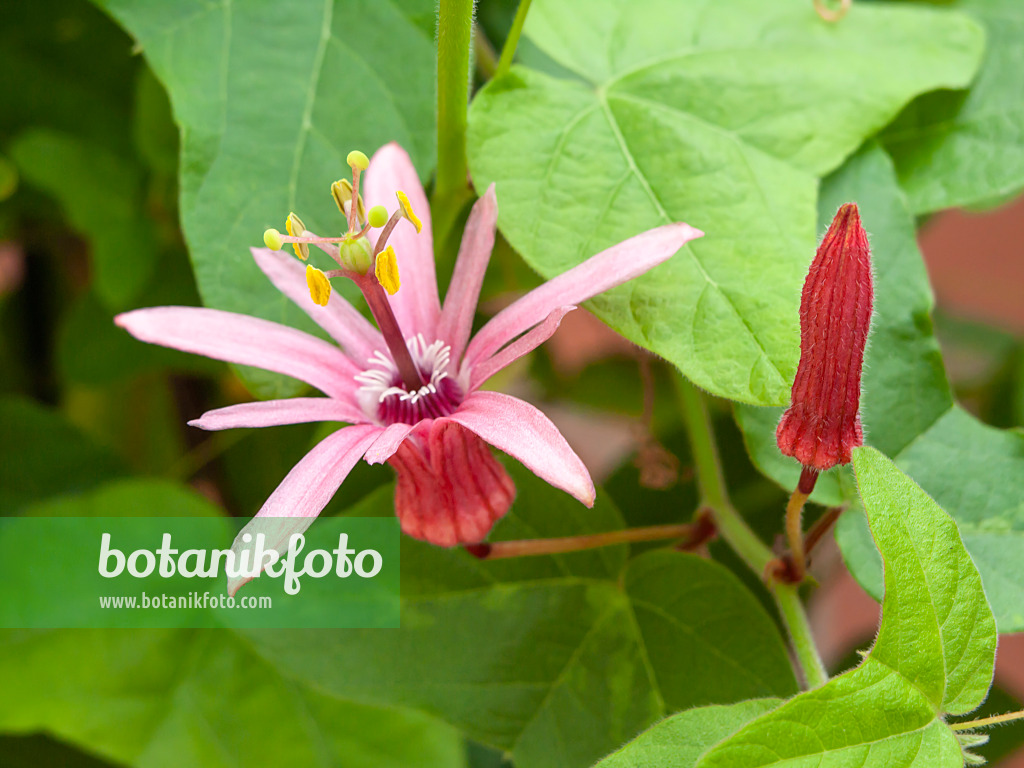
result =
M136 309L114 322L139 341L292 376L332 397L355 392L359 369L338 347L288 326L187 306Z

